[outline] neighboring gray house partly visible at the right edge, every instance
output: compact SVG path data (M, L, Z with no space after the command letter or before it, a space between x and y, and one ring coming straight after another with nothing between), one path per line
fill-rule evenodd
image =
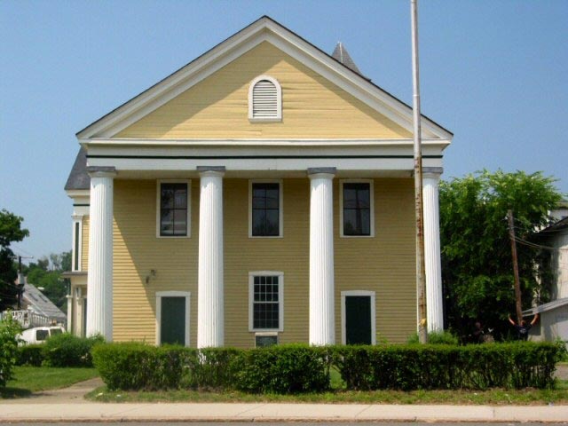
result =
M563 217L558 215L557 217ZM553 341L556 338L568 344L568 217L538 233L539 244L551 250L552 302L540 304L524 313L540 314L540 320L531 330L531 340Z

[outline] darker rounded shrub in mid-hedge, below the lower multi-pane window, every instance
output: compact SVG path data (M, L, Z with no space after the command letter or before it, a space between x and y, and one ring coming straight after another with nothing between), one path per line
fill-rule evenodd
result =
M318 392L329 389L331 357L325 347L274 345L242 351L236 387L254 393Z

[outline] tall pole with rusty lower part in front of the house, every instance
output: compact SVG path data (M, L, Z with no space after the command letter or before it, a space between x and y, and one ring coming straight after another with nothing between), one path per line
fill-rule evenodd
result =
M422 208L422 130L420 114L420 78L418 67L418 0L410 1L412 23L412 75L414 115L414 211L416 217L416 302L418 304L418 340L428 342L426 327L426 273L424 265L424 227Z

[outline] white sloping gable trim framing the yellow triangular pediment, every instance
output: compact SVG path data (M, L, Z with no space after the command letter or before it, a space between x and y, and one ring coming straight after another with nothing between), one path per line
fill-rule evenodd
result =
M80 141L88 138L113 137L131 123L151 113L264 41L276 45L304 65L312 67L314 71L375 108L390 120L410 131L413 130L410 106L272 18L263 16L96 122L92 122L77 132L76 137ZM453 137L452 132L425 115L422 115L422 131L425 136L434 138L449 140Z

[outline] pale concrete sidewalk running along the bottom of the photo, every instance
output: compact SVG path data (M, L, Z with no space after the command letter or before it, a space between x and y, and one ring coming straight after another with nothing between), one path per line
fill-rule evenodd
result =
M0 404L0 422L568 422L568 406Z

